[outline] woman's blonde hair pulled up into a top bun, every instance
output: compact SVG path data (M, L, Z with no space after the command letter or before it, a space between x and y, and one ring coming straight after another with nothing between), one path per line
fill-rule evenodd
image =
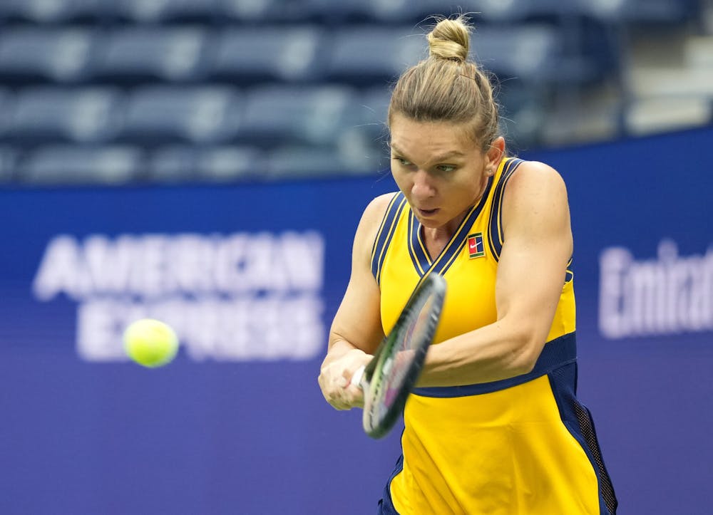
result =
M498 105L486 72L468 60L467 17L441 19L426 38L429 58L402 73L391 93L389 125L396 113L419 122L469 124L468 135L486 151L498 137Z

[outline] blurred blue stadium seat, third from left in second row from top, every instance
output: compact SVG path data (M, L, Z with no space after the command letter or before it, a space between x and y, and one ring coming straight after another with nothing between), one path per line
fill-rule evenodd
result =
M230 28L217 39L210 78L236 83L322 78L322 31L314 26Z

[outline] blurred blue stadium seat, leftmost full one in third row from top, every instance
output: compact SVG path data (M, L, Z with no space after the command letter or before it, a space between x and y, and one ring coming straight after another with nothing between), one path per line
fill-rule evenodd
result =
M121 96L113 88L25 88L11 107L6 138L40 142L102 142L120 125Z

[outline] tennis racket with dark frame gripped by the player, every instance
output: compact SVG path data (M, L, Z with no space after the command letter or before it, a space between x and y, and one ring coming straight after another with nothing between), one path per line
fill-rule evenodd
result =
M425 276L374 358L352 376L352 384L364 391L362 425L370 437L386 436L401 416L424 367L445 296L446 280L438 274Z

